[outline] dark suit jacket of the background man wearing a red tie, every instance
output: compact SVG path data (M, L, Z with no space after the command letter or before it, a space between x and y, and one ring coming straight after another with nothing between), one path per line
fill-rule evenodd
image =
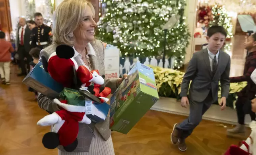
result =
M20 27L19 27L20 28ZM17 30L17 32L16 32L16 42L15 42L15 44L16 44L16 47L17 48L19 48L19 28L18 28L18 30ZM27 53L29 53L29 51L30 51L30 49L31 49L31 45L30 45L30 35L31 35L31 30L29 29L29 27L27 26L26 28L25 28L25 34L24 34L24 40L23 40L23 42L24 42L24 47L25 47L25 51L27 52Z

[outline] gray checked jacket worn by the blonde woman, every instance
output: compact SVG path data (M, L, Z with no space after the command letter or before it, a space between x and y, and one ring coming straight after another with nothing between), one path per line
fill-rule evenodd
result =
M99 70L99 74L103 76L105 75L105 55L103 43L100 40L95 40L95 42L91 42L91 45L93 46L96 55L90 55L92 69ZM45 56L48 59L50 54L55 51L56 47L56 44L46 47L40 52L40 57ZM110 87L113 93L118 87L117 79L105 80L105 85L106 87ZM38 96L38 104L40 108L49 112L55 112L59 110L57 104L53 102L52 98L48 98L42 94L39 94ZM89 152L91 140L93 138L93 131L95 128L99 131L102 138L107 141L111 136L111 130L109 129L109 115L104 122L97 123L96 125L93 123L90 125L86 125L85 123L79 124L78 146L74 152ZM62 146L58 147L58 149L65 152Z

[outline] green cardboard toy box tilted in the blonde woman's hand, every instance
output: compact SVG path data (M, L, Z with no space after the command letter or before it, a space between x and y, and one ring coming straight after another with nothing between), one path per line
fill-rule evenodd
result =
M110 129L127 134L157 100L153 69L137 62L110 99Z

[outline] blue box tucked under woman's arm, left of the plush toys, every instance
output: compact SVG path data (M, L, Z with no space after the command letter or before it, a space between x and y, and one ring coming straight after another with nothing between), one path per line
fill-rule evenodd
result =
M51 98L59 98L59 93L63 90L62 85L45 72L41 61L27 74L22 82Z

